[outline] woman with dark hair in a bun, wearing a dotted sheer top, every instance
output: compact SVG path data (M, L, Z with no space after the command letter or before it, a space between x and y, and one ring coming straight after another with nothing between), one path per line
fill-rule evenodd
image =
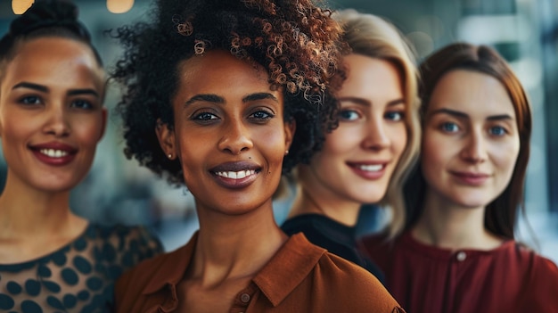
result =
M2 312L105 312L116 278L162 251L143 227L70 210L103 137L105 84L74 4L37 1L0 39Z

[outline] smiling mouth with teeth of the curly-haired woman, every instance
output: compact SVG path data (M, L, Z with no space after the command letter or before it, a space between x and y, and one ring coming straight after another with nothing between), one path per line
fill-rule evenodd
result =
M209 169L218 185L240 189L251 185L258 177L261 168L249 161L226 162Z

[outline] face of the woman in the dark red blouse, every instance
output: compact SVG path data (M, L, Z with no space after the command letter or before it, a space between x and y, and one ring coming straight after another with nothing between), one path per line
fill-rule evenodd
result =
M509 184L519 150L513 103L496 78L470 70L440 78L423 131L427 197L453 206L488 205Z

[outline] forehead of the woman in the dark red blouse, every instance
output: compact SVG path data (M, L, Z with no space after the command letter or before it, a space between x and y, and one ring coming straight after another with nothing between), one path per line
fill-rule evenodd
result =
M427 113L442 108L479 117L515 116L505 86L496 78L473 70L451 70L439 79L432 91Z

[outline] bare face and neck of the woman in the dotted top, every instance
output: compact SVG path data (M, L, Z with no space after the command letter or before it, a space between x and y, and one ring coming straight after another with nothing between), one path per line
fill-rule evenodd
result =
M0 85L0 136L8 165L0 195L0 263L36 259L73 241L87 222L70 190L103 137L104 74L91 49L66 38L23 43Z

